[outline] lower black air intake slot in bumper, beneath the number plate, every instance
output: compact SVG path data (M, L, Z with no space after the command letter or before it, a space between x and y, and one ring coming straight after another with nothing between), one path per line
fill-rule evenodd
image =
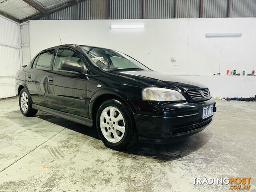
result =
M180 133L196 130L198 128L201 128L201 127L204 127L204 126L210 124L211 121L212 121L212 116L208 117L204 120L200 119L200 120L197 120L194 122L188 122L185 124L176 125L176 126L172 127L171 134L180 134Z

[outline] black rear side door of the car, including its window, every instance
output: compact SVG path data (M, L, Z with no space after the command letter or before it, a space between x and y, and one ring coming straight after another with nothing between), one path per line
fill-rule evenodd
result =
M48 106L46 100L47 75L54 58L53 55L54 50L38 54L31 67L26 70L26 84L34 104Z

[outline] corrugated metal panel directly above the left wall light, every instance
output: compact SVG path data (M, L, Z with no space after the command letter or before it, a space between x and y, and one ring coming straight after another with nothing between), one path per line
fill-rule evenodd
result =
M111 19L141 19L142 0L110 0Z

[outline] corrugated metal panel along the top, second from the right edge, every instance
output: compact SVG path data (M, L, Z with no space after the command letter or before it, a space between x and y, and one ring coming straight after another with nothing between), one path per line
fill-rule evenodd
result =
M228 13L228 0L204 0L203 18L223 18Z

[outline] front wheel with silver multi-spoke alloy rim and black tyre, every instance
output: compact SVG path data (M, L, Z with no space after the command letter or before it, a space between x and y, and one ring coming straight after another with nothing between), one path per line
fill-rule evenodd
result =
M124 150L138 141L132 111L118 100L106 100L101 104L96 128L102 142L114 150Z

